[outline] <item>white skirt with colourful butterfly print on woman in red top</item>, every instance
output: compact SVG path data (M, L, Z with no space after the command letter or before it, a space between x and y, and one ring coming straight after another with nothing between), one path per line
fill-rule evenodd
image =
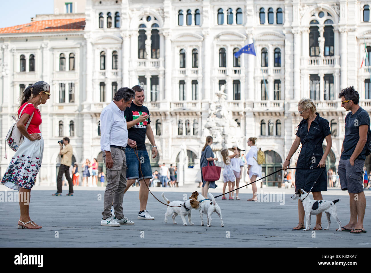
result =
M18 191L19 188L31 189L40 170L43 153L43 137L35 141L25 138L12 160L10 160L1 183Z

